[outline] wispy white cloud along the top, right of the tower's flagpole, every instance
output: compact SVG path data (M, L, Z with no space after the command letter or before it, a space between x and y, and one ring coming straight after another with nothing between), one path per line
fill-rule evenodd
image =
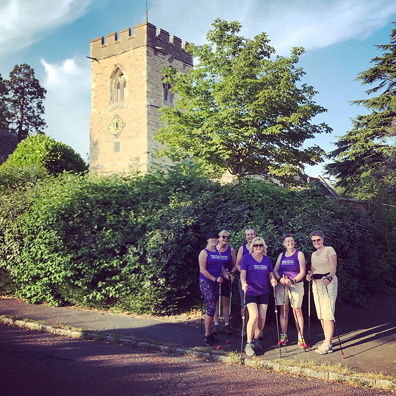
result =
M389 0L156 0L148 20L165 30L174 26L171 34L196 44L205 41L216 17L238 20L246 37L264 31L277 53L287 55L295 46L316 49L365 39L395 12L396 3Z

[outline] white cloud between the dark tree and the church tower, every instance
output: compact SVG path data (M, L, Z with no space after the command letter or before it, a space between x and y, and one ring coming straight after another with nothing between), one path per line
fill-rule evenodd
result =
M89 152L91 113L91 65L84 57L66 59L60 64L41 60L46 78L46 133L76 151L83 158Z

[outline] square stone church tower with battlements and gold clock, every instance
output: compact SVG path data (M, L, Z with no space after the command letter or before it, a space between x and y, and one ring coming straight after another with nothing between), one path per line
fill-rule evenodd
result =
M160 147L152 138L161 127L158 108L172 105L170 86L163 83L167 66L188 73L193 66L187 43L145 22L131 29L91 40L92 112L90 170L146 172ZM137 162L138 161L138 162Z

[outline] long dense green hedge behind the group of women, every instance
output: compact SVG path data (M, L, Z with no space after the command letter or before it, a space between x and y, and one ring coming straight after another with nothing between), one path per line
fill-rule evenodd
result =
M364 304L378 276L382 288L394 279L395 214L325 198L316 188L221 185L193 165L145 176L64 173L1 193L0 289L54 305L188 309L200 297L198 253L207 232L228 229L238 249L248 225L264 237L273 263L287 232L310 261L309 233L323 230L338 254L339 302Z

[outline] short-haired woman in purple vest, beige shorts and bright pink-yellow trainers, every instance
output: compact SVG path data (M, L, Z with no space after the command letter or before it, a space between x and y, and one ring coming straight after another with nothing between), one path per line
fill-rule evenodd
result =
M295 248L293 234L286 234L282 238L286 251L279 254L276 261L274 274L278 281L276 286L276 304L283 305L281 309L281 337L279 344L288 342L287 328L289 322L289 301L292 304L294 319L296 322L298 346L308 347L304 340L304 319L302 317L301 305L304 296L305 257L302 251Z

